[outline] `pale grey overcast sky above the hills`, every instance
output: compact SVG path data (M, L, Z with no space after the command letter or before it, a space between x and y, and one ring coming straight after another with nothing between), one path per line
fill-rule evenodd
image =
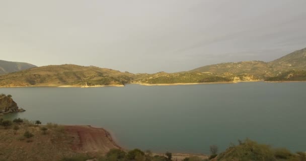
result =
M0 59L178 72L306 47L305 0L0 0Z

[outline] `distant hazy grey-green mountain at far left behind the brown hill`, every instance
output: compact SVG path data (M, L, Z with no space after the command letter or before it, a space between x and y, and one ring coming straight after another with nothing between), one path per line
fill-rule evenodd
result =
M0 75L20 70L25 70L32 67L37 67L37 66L25 62L0 60Z

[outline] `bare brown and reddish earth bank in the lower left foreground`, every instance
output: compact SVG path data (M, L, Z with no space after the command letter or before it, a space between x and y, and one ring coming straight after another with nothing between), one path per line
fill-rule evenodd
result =
M42 134L40 126L19 125L14 134L13 128L0 126L0 160L58 161L80 153L92 156L103 155L117 146L104 129L88 126L46 126L47 134ZM32 138L23 137L28 130Z

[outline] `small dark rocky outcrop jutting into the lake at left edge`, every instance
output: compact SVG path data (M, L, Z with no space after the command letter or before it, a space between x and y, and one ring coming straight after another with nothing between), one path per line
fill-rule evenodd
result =
M14 112L25 111L17 106L17 103L13 101L12 97L6 95L0 95L0 115Z

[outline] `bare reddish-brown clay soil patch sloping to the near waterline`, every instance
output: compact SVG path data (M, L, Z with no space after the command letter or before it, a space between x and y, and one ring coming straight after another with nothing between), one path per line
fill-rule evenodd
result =
M77 152L107 153L112 148L120 148L110 133L103 128L91 126L65 126L73 139L72 149Z

